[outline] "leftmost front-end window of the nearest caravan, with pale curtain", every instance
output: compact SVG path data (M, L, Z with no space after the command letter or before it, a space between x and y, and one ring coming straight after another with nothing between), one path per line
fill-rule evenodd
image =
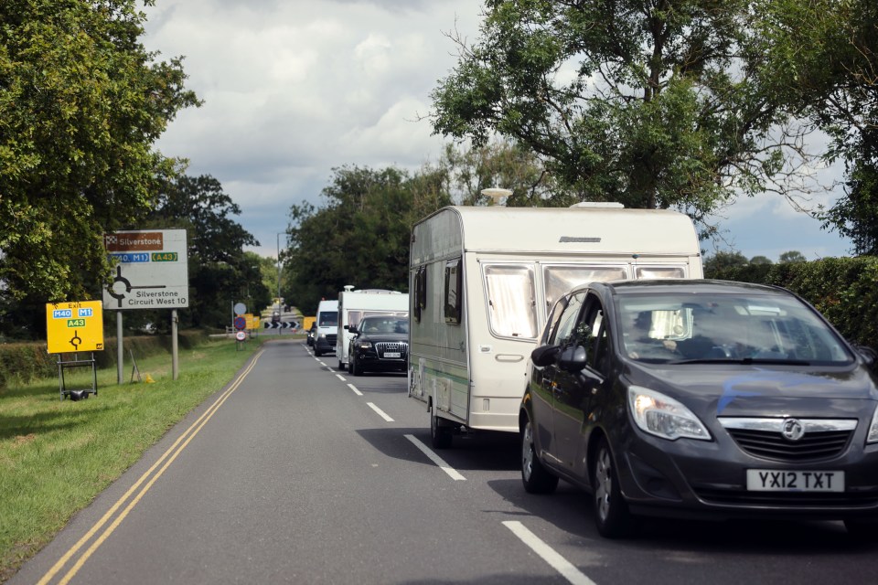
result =
M536 338L536 288L531 266L487 265L485 290L488 321L494 335Z

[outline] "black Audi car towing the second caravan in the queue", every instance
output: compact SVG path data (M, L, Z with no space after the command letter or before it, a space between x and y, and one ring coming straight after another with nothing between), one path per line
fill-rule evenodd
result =
M409 359L409 320L407 317L377 315L363 317L348 351L348 369L354 376L366 371L404 372Z

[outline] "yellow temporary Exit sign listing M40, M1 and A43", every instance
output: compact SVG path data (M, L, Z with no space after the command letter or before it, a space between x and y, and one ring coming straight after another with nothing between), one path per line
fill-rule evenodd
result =
M46 304L48 353L103 350L101 301Z

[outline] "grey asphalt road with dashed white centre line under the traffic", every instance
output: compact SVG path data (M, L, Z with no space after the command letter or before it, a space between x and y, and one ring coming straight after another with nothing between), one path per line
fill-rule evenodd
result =
M432 452L404 375L279 339L9 582L871 583L838 523L653 520L597 535L583 493L527 495L514 435Z

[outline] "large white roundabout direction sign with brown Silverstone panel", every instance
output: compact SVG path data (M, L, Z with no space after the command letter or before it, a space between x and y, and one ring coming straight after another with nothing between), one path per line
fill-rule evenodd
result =
M180 309L189 306L185 229L117 231L104 248L118 263L103 291L104 309Z

